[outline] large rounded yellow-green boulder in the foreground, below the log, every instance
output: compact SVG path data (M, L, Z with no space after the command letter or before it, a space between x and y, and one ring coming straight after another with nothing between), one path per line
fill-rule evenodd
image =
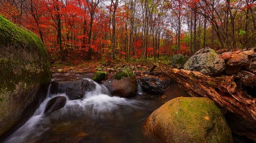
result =
M155 110L144 127L162 142L232 142L220 109L207 98L176 98Z

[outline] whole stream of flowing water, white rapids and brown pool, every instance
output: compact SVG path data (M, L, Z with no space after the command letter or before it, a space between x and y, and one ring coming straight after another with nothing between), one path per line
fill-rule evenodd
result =
M131 99L111 97L104 86L94 83L95 90L79 100L51 94L50 85L34 115L4 142L158 142L143 129L143 122L166 100L146 98L141 87ZM178 86L172 88L173 94L185 93ZM65 107L45 116L48 101L57 96L67 98Z

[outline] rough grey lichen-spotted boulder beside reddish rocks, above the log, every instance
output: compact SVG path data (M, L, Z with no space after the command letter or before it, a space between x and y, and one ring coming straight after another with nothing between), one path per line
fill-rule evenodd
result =
M188 59L184 69L217 76L225 69L225 61L214 50L205 47Z

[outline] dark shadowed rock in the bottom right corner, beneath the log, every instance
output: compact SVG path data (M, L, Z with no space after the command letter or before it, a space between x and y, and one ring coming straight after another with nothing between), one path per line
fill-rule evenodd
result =
M245 135L248 138L256 141L256 123L245 120L245 118L228 113L225 115L227 123L233 133Z

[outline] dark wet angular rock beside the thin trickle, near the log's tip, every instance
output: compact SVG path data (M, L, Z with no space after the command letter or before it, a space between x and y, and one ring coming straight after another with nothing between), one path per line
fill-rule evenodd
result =
M166 90L164 81L158 78L140 78L138 83L144 92L163 94Z

